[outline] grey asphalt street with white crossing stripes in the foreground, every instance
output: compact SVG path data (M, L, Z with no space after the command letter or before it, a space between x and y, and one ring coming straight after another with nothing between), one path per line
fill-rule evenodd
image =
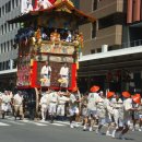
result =
M142 132L129 132L128 140L97 135L95 131L84 132L82 127L71 129L69 122L0 119L0 142L141 142Z

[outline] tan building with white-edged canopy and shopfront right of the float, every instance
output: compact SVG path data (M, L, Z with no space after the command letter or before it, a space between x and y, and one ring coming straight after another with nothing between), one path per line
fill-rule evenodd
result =
M141 92L141 7L142 0L80 1L80 9L97 19L80 27L84 34L78 74L82 92L94 84L102 90Z

